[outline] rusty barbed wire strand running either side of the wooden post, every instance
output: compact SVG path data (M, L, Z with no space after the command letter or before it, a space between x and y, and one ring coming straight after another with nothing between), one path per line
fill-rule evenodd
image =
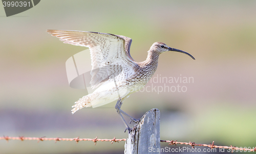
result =
M86 139L86 138L83 138L83 139L80 139L79 137L77 138L46 138L46 137L24 137L24 136L19 136L19 137L9 137L9 136L4 136L4 137L0 137L0 140L6 140L7 142L9 140L20 140L20 141L24 141L24 140L37 140L37 142L40 142L40 141L55 141L55 143L57 141L76 141L76 143L78 143L79 141L93 141L94 142L94 145L96 145L96 142L97 141L109 141L111 142L111 144L113 144L113 142L119 142L119 141L126 141L126 139L116 139L115 137L113 139L98 139L98 137L94 138L94 139ZM192 146L192 148L194 148L194 146L206 146L206 147L209 147L209 148L224 148L224 149L231 149L231 150L244 150L244 151L254 151L256 152L256 147L253 148L253 149L249 149L249 148L239 148L239 147L236 147L236 146L218 146L218 145L215 145L214 144L214 141L210 144L196 144L195 142L177 142L172 140L172 141L169 141L169 140L160 140L160 142L166 142L168 143L169 145L176 145L176 144L185 144L185 145L190 145Z

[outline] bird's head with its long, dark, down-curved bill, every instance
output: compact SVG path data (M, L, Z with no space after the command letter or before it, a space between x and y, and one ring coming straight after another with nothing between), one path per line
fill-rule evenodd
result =
M190 55L190 54L188 54L188 53L186 53L186 52L183 52L182 50L169 47L169 46L167 46L166 44L164 44L164 43L162 43L162 42L155 42L155 43L150 47L150 51L155 52L155 53L157 53L157 54L162 54L162 53L170 52L170 51L179 52L179 53L186 54L186 55L190 56L192 59L195 60L195 58L194 58L192 55Z

